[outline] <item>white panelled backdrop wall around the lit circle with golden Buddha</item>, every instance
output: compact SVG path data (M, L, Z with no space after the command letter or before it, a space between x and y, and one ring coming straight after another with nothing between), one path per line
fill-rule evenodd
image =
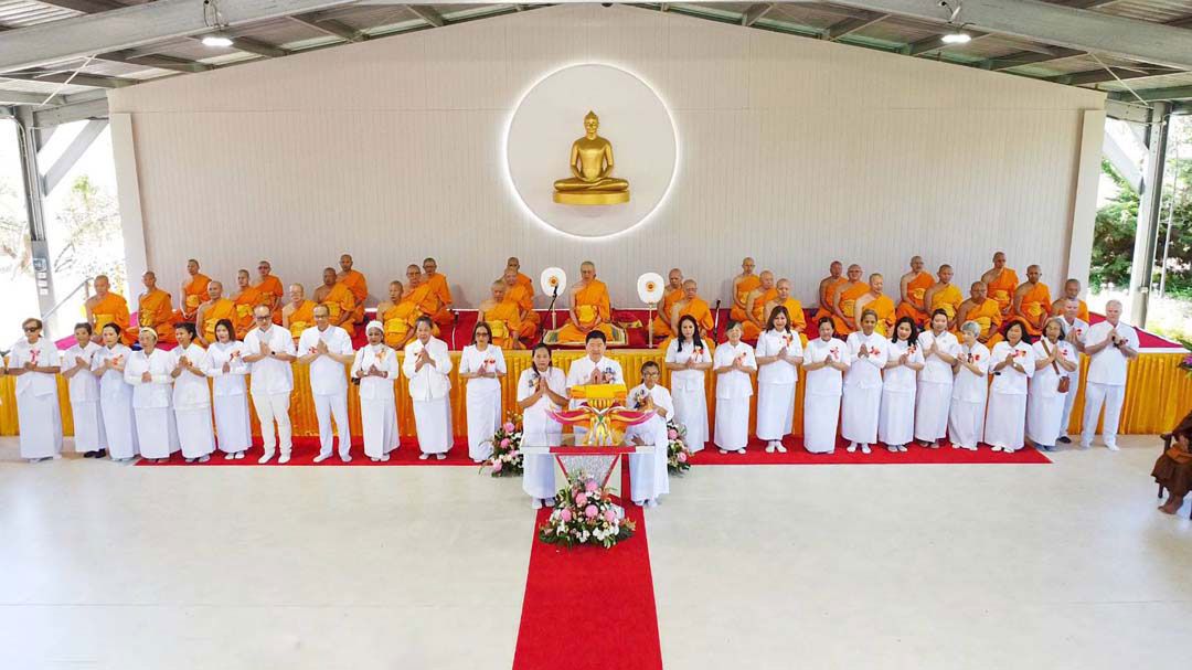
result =
M670 196L610 240L545 229L502 168L520 97L576 62L639 74L678 128ZM597 5L110 95L112 112L132 120L123 137L137 180L120 188L139 193L122 203L138 203L141 216L125 222L143 219L143 261L163 284L176 286L197 256L225 281L267 258L283 280L309 286L349 252L383 296L405 265L433 255L465 306L511 254L535 277L548 265L575 277L591 259L623 306L637 304L639 273L675 265L709 299L727 299L744 255L790 277L805 303L832 259L886 273L896 292L915 253L930 267L952 263L967 286L1005 249L1020 275L1038 262L1056 287L1074 217L1078 229L1092 224L1080 221L1088 207L1076 216L1081 128L1085 110L1103 107L1089 91Z

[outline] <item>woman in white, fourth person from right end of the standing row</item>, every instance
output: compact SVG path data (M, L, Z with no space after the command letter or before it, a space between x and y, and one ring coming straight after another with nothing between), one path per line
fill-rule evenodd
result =
M1026 436L1026 385L1035 376L1035 350L1022 321L1012 321L1005 340L989 353L989 402L985 415L985 443L995 452L1023 448Z

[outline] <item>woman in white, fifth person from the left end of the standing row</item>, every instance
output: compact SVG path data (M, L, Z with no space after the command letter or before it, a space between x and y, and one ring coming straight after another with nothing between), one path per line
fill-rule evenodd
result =
M174 421L186 463L206 463L216 451L211 423L211 387L207 385L207 352L197 342L193 323L174 327L178 347L170 352L169 376L174 378ZM212 334L212 340L215 335Z

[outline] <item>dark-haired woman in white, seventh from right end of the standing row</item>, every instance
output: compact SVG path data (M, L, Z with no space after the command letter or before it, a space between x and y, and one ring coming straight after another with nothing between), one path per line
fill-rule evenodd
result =
M894 324L886 372L882 376L882 408L877 416L877 439L890 452L905 452L914 439L915 377L924 367L914 320L904 316Z

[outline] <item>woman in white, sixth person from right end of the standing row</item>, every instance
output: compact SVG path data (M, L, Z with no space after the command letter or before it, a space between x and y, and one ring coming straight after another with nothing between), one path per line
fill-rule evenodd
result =
M939 440L948 435L948 410L952 402L952 366L960 355L961 343L948 331L948 312L939 309L931 314L931 330L919 334L919 350L924 366L915 389L914 439L919 445L939 448Z

